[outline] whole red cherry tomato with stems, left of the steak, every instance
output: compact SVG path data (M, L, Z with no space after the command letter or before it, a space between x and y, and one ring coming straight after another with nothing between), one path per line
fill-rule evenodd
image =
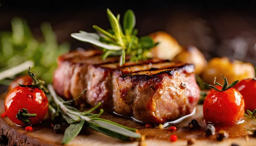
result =
M39 80L35 73L28 75L33 83L27 83L13 88L5 97L5 112L13 123L18 126L34 125L45 117L48 111L47 89L44 81Z

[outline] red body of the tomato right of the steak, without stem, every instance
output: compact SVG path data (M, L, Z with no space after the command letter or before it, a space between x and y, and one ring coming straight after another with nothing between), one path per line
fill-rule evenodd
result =
M210 92L203 103L203 116L207 123L233 125L243 119L244 100L234 88Z

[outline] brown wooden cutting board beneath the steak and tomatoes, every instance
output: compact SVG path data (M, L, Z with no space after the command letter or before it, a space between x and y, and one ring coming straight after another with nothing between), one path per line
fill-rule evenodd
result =
M4 99L0 99L0 113L4 112L3 106ZM140 133L146 136L146 139L142 142L124 142L109 136L105 136L99 132L93 131L89 128L82 129L81 133L74 138L66 146L187 146L187 139L197 138L193 146L231 146L232 143L236 143L239 146L255 146L256 138L247 136L236 136L241 132L241 127L235 127L231 130L231 138L225 139L224 141L216 141L214 136L210 138L205 138L203 130L190 131L188 130L188 122L191 119L197 119L200 125L203 124L200 119L202 118L202 106L198 106L196 114L190 118L185 119L180 122L177 126L177 132L171 132L167 129L160 128L144 128L144 125L134 122L130 118L123 118L116 116L111 113L104 114L101 118L106 118L111 121L115 121L124 126L137 128ZM33 126L33 131L27 132L24 127L16 126L8 117L0 118L0 127L3 133L8 137L9 146L61 146L61 140L63 134L54 133L51 127L50 120L44 120L41 123ZM225 127L223 127L225 129ZM216 128L216 130L220 130ZM242 128L244 132L244 128ZM170 142L170 135L176 134L178 140L176 142ZM233 138L232 138L233 137Z

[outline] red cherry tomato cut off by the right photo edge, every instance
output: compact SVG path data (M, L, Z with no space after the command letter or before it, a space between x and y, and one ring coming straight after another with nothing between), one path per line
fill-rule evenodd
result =
M243 96L245 109L253 111L256 108L256 81L252 78L238 82L236 88Z

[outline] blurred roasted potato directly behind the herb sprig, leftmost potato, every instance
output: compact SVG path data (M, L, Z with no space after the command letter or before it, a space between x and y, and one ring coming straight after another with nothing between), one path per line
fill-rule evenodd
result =
M172 58L182 50L182 47L177 40L166 32L157 31L151 33L149 36L151 36L155 43L159 43L151 49L151 55L154 58L172 60Z

